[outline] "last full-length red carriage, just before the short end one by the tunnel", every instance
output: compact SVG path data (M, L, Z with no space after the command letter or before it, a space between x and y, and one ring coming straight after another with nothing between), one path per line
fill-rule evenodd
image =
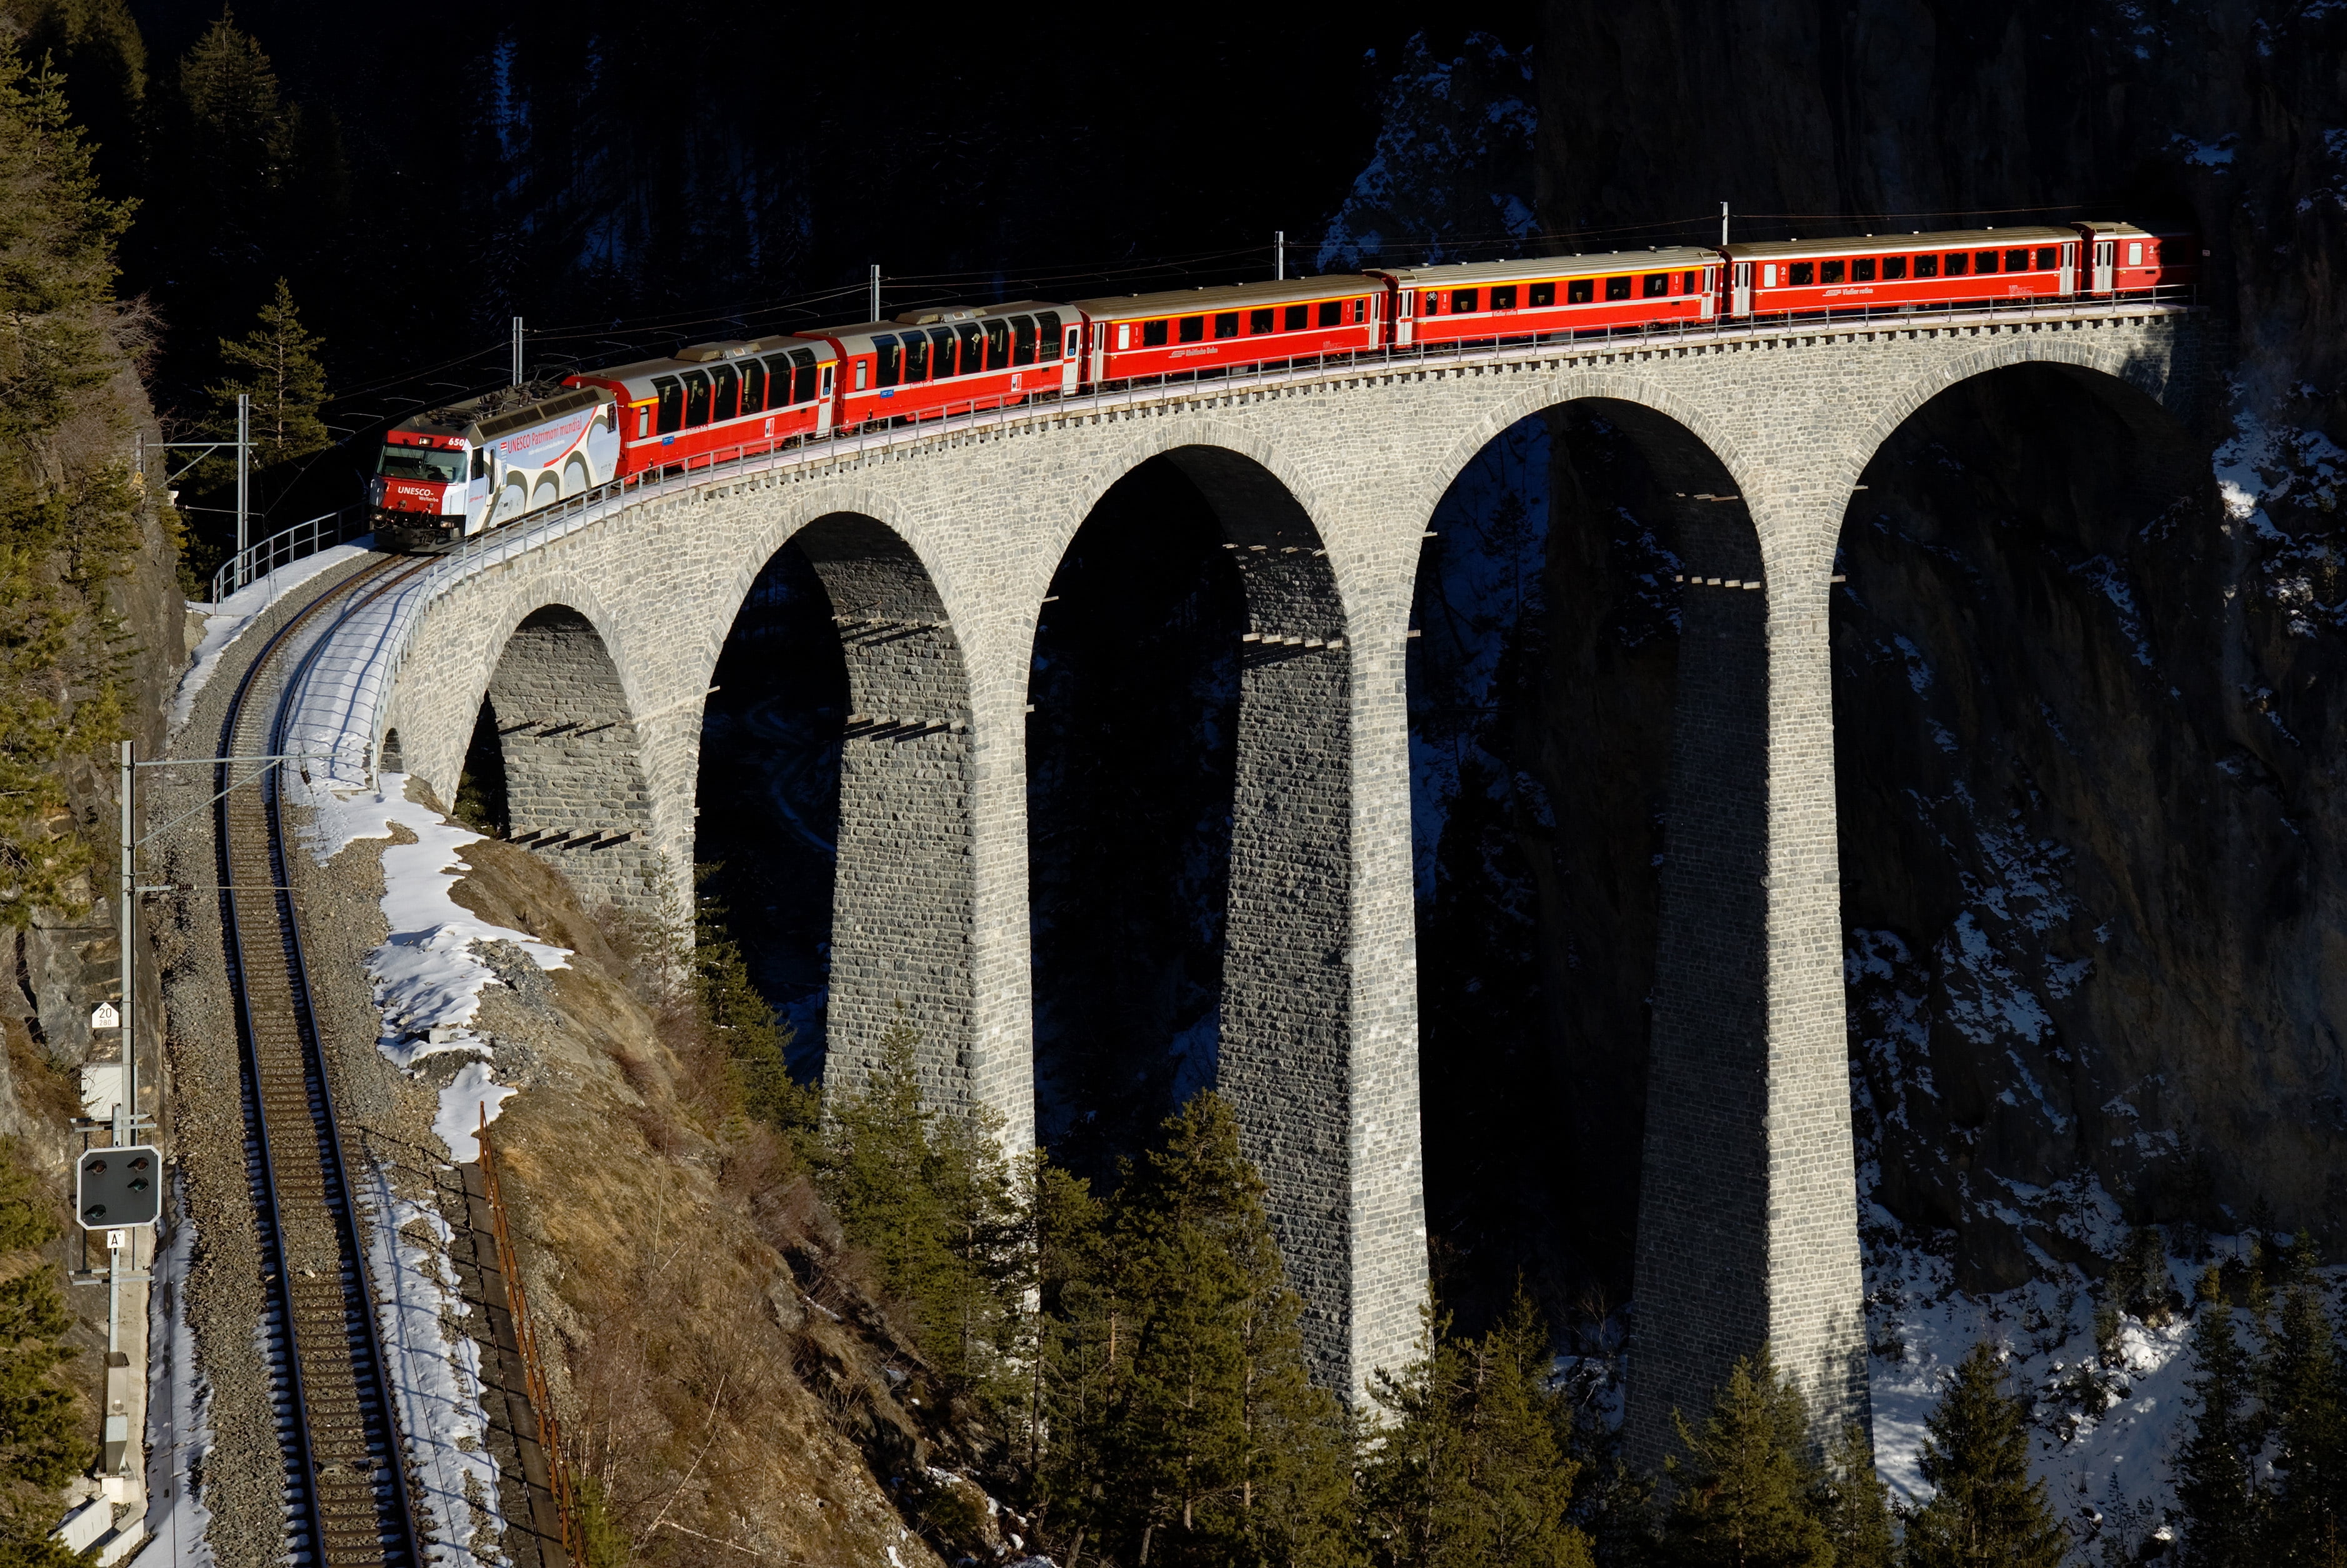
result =
M1727 315L1828 315L2077 293L2070 228L1730 244Z

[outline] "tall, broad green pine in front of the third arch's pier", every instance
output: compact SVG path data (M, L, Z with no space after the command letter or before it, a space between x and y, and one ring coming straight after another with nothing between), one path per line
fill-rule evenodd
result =
M1321 1568L1359 1559L1350 1432L1305 1373L1303 1303L1263 1209L1263 1178L1211 1091L1166 1122L1117 1192L1101 1284L1091 1430L1070 1446L1091 1483L1056 1495L1087 1561ZM1066 1472L1061 1472L1066 1474Z

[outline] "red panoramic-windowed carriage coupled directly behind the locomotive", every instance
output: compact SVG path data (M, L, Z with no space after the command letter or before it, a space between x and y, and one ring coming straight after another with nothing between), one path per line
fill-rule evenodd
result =
M756 338L695 343L671 359L641 359L566 378L620 394L620 474L704 467L718 453L831 430L838 352L828 343Z

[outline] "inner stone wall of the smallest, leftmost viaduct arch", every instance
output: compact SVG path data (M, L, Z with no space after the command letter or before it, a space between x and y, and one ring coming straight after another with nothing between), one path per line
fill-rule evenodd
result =
M596 622L568 603L521 615L483 702L498 716L512 840L559 866L589 908L662 908L676 890L652 836L634 704Z

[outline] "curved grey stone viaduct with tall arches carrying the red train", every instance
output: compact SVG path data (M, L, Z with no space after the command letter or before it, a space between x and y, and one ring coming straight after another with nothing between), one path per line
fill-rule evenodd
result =
M702 699L767 559L814 563L850 669L831 1070L922 1033L939 1103L1033 1136L1026 704L1075 530L1141 462L1246 584L1220 1089L1272 1185L1326 1383L1399 1368L1427 1282L1406 634L1436 500L1511 423L1596 399L1683 493L1687 566L1636 1263L1631 1444L1770 1340L1819 1430L1866 1418L1838 927L1828 580L1901 420L2000 366L2194 418L2187 310L1720 326L1328 364L887 432L587 498L336 631L305 749L385 744L446 800L483 697L514 838L589 899L683 911ZM2162 408L2166 413L2162 413ZM2178 427L2180 434L2180 427Z

